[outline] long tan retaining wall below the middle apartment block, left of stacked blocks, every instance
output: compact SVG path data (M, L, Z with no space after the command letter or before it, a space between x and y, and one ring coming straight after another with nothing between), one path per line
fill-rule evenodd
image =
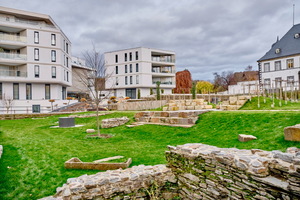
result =
M108 105L109 110L150 110L166 105L167 101L121 102Z

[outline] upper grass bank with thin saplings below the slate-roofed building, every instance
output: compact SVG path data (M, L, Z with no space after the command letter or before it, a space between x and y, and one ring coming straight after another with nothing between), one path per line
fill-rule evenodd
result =
M264 99L266 100L264 102ZM281 102L281 106L280 106ZM246 104L240 110L300 110L300 102L291 102L284 100L274 99L274 107L272 108L271 98L259 98L260 107L258 107L258 97L253 97L251 101L247 101Z

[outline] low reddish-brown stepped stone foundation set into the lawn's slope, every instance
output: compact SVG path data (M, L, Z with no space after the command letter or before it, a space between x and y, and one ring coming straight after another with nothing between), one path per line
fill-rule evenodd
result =
M137 122L163 125L194 125L208 111L144 111L135 114Z

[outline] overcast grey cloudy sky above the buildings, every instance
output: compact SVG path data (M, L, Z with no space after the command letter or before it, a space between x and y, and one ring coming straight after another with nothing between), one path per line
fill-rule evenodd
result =
M176 52L177 71L193 79L257 69L257 60L293 25L300 0L1 0L0 5L50 15L80 57L150 47Z

